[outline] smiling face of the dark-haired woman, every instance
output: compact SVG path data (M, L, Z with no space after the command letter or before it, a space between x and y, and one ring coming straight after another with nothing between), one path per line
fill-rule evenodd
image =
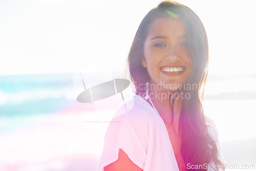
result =
M190 56L181 19L156 18L150 24L141 63L147 68L151 83L160 84L165 90L175 90L187 80L191 71Z

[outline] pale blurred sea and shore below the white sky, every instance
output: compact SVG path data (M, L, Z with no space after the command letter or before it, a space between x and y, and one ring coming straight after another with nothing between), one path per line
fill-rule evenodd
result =
M76 76L0 76L1 171L96 169L108 121L122 98L117 94L104 103L80 103L76 98L84 87ZM209 76L204 112L218 126L229 164L256 164L255 86L256 74ZM130 98L131 88L123 96ZM238 160L234 152L247 158Z

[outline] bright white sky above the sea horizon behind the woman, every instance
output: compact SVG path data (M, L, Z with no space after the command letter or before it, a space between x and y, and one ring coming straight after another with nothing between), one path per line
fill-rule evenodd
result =
M139 23L159 2L1 0L0 75L72 73L99 61L123 71ZM179 2L205 26L209 74L256 73L252 1Z

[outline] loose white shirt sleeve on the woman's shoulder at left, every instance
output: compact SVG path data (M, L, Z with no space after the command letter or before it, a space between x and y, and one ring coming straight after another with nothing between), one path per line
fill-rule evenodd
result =
M103 152L97 171L118 159L121 148L141 169L144 167L148 147L148 117L143 110L133 108L119 114L109 124L104 137Z

